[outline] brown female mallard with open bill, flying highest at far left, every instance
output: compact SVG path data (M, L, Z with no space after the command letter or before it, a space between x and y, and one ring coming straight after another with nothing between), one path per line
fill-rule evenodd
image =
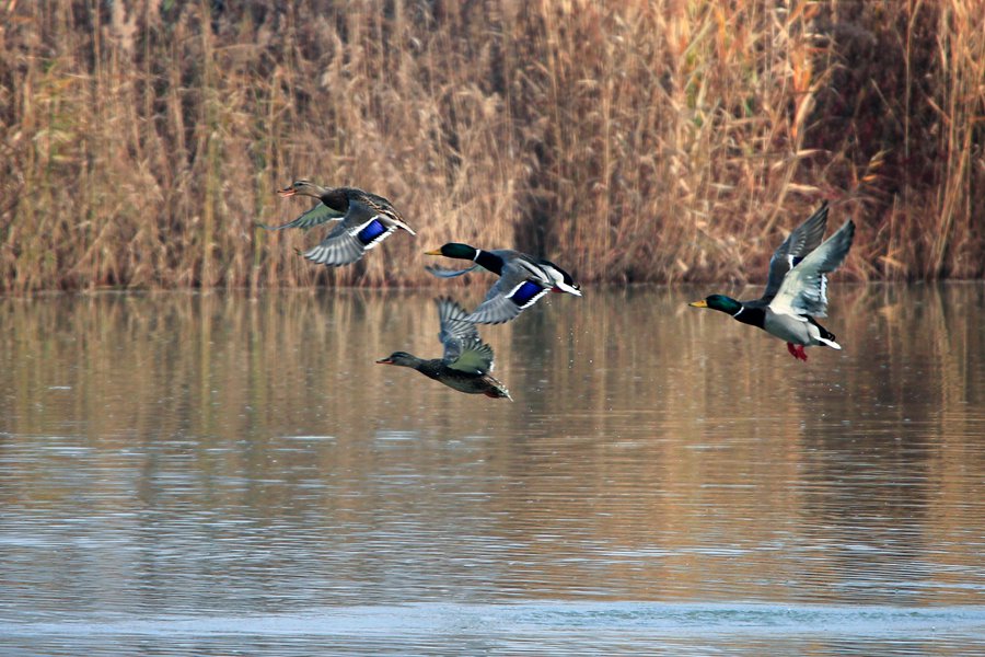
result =
M309 229L326 221L340 221L324 240L313 249L302 253L313 263L326 267L338 267L355 263L362 255L402 228L412 235L415 232L404 221L404 217L382 196L355 187L322 187L311 181L294 181L277 192L280 196L312 196L318 204L281 226L259 223L267 230L286 228Z

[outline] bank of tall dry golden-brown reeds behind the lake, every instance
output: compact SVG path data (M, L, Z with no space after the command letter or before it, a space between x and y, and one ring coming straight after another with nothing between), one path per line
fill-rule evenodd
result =
M745 280L822 198L856 277L985 275L983 0L281 4L0 5L0 289ZM419 234L312 266L300 176Z

